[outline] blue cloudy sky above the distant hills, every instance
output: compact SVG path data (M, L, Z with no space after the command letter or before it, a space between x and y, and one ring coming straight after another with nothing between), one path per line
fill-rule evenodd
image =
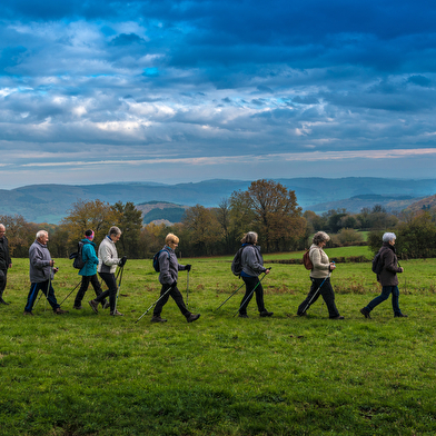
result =
M436 178L436 3L0 4L0 189Z

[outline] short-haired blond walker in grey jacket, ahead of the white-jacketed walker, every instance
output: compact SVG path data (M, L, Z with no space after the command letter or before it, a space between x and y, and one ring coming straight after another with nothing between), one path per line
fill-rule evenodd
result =
M191 314L185 305L184 297L177 288L177 279L179 271L190 271L190 265L180 265L177 261L176 248L179 245L179 238L174 234L168 234L165 238L165 247L159 255L159 283L162 286L160 289L161 298L155 306L151 323L166 323L167 319L160 317L164 306L171 297L177 307L180 309L181 315L186 317L188 323L196 321L200 314Z

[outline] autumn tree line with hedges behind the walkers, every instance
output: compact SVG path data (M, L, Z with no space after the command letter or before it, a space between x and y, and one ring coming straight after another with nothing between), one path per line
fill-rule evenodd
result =
M385 230L397 234L397 247L403 258L436 257L436 210L389 214L382 206L364 208L359 214L331 209L317 215L303 212L294 190L272 180L256 180L247 190L234 191L218 207L196 205L186 210L181 222L166 226L153 222L143 226L141 211L130 201L109 205L100 200L72 204L59 225L27 222L20 215L0 216L13 257L27 257L39 229L50 235L53 257L68 257L87 229L96 232L99 244L111 226L122 230L118 251L128 258L151 258L168 232L180 238L179 252L185 256L234 254L248 230L257 231L264 252L294 251L307 248L310 236L319 230L331 236L329 246L368 244L380 246ZM369 230L364 242L360 230Z

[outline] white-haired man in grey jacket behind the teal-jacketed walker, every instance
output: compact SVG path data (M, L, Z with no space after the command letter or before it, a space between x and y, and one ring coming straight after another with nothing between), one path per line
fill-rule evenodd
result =
M24 307L23 315L33 315L32 308L37 299L38 293L41 290L49 301L56 315L68 314L62 310L56 299L52 279L58 268L54 268L54 260L51 259L50 251L47 248L49 234L46 230L37 232L37 239L29 248L29 276L30 290Z

